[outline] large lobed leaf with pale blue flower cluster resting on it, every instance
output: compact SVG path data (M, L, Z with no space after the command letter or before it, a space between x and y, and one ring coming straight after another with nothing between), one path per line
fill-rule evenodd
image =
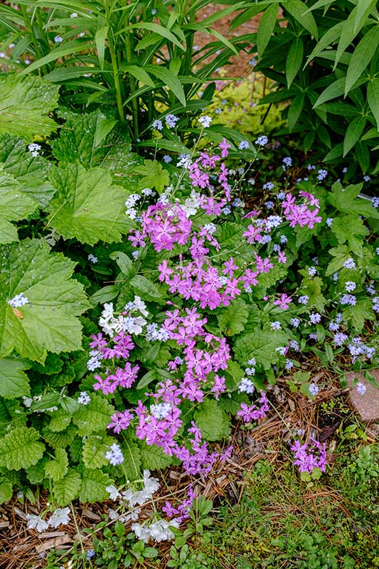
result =
M79 314L90 308L83 287L71 279L75 262L50 253L44 240L0 247L0 357L16 350L43 363L47 351L81 347ZM16 294L28 299L18 312L8 304Z

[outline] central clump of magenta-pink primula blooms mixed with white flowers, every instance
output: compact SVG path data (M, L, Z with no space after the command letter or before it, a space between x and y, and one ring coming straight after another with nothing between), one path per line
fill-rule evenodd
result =
M102 331L92 336L88 361L95 371L95 390L109 396L124 390L143 393L137 405L112 415L109 429L160 447L191 475L209 474L215 462L232 452L231 447L223 452L210 447L210 441L228 435L228 400L237 395L233 405L243 422L267 415L269 400L261 387L256 388L261 383L255 379L256 372L262 378L266 364L248 357L248 348L238 355L230 336L242 331L238 319L247 321L261 280L287 265L285 228L314 230L321 223L319 199L310 191L282 193L276 211L267 217L257 211L245 213L243 201L233 196L233 181L223 161L230 144L224 139L219 148L220 154L201 151L195 159L186 156L182 167L189 195L177 196L171 186L158 198L148 188L128 198L127 215L137 220L128 238L134 262L144 267L149 259L154 289L161 289L169 300L159 314L149 294L144 299L134 294L118 311L112 302L105 304L99 320ZM273 207L274 203L270 210ZM231 228L237 240L230 238ZM275 314L295 304L294 294L283 290L264 301ZM319 316L311 315L311 321L318 322ZM278 319L271 326L279 342L273 361L290 369L289 352L298 351L299 344L286 340L281 326ZM145 381L144 358L137 354L139 346L149 350L154 345L157 354L167 354L165 367L147 373ZM122 463L119 448L108 455Z

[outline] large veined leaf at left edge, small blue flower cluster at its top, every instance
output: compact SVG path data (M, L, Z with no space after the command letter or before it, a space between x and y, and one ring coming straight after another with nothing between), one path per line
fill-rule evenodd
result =
M48 181L51 163L42 156L32 156L23 139L0 134L0 166L4 174L22 184L23 194L41 207L48 205L55 191Z

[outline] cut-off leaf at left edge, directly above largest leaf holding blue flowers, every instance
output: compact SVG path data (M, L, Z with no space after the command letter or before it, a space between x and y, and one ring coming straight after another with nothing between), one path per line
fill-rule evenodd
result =
M31 196L23 193L13 176L0 169L0 243L18 241L17 229L11 221L25 219L37 205Z

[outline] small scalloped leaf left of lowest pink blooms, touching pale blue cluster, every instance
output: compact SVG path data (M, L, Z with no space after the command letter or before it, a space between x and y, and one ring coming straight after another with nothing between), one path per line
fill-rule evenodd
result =
M84 437L92 432L104 431L110 422L114 408L100 395L91 395L88 405L82 405L73 415L73 423L78 427L78 435Z

